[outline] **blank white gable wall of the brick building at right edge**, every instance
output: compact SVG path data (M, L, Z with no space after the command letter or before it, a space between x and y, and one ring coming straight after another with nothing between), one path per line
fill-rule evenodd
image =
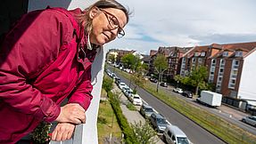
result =
M238 98L256 100L256 51L244 58ZM256 101L253 102L256 106Z

